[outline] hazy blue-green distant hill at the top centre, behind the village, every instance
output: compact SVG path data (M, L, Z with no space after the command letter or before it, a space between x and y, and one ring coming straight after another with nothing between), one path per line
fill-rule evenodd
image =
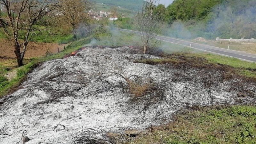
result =
M112 6L120 6L128 10L137 11L143 5L144 0L91 0L94 3L103 3Z

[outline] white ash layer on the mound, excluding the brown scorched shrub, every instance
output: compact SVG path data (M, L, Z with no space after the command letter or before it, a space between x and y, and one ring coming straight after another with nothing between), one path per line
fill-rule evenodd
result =
M173 102L176 105L162 102L153 104L146 111L141 111L143 105L127 105L131 93L106 86L125 83L121 77L124 75L134 80L151 79L159 83L168 83L173 76L172 69L134 63L134 59L158 57L130 54L128 47L88 47L76 56L45 62L31 72L21 84L21 89L0 106L0 128L4 126L7 132L7 135L0 135L0 143L22 143L22 132L25 130L24 136L31 139L26 144L71 143L74 135L88 128L115 132L163 124L166 121L161 118L170 119L173 112L179 110L177 105L180 102L201 105L232 102L232 92L224 91L224 86L221 91L212 91L214 98L211 101L206 89L200 90L188 82L177 82L167 88L172 91L166 92L168 100L176 96L177 101ZM185 91L184 87L188 90ZM182 95L182 92L192 88L195 90L191 92L199 98ZM99 89L104 91L97 93Z

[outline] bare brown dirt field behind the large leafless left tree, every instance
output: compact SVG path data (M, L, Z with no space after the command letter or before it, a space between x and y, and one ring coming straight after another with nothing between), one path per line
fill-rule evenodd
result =
M49 49L49 52L57 53L58 47L60 51L64 49L64 45L59 45L56 43L30 42L28 44L28 48L25 52L24 57L32 58L32 57L44 56L48 49ZM16 58L13 44L6 39L0 39L0 59L6 60L10 58Z

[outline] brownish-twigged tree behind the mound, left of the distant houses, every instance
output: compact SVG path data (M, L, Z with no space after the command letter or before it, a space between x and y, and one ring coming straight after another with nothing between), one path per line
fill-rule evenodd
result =
M62 7L60 11L64 17L60 17L62 24L71 27L73 30L73 37L77 39L77 30L81 23L88 25L90 17L88 10L91 8L92 3L88 0L61 0Z

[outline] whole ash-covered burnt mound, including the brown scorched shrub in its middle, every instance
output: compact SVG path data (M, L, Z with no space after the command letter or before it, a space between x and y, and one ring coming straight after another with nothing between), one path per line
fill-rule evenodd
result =
M106 132L165 124L180 108L255 100L236 98L235 81L222 81L218 71L139 63L144 59L159 57L129 47L86 47L45 62L4 97L0 143L21 144L24 136L27 144L86 143Z

